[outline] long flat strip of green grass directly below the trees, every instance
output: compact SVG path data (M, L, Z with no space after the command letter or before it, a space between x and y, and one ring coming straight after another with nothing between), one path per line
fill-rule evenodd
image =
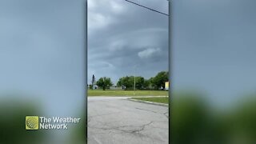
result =
M88 90L88 96L168 96L165 90Z

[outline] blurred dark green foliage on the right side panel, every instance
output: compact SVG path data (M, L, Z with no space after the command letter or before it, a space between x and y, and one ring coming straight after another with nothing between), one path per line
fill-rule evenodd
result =
M242 97L237 105L216 109L204 94L172 94L170 142L173 144L254 144L255 122L254 96Z

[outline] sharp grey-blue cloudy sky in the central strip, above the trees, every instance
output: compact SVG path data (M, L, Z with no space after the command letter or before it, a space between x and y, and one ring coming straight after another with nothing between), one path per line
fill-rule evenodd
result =
M166 0L134 0L168 14ZM168 70L168 17L124 0L88 1L88 82Z

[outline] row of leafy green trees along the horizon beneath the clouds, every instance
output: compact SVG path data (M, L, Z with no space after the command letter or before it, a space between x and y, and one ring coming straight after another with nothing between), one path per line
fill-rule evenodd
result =
M165 88L165 82L169 81L169 72L161 71L156 74L154 77L146 79L142 76L135 77L134 76L125 76L119 78L116 86L122 87L124 90L133 90L134 83L136 90L163 90ZM103 90L110 89L110 86L113 86L113 82L111 82L111 78L102 77L99 78L98 81L95 81L95 77L93 75L92 83L90 85L90 89L94 89L94 86L97 85L99 88Z

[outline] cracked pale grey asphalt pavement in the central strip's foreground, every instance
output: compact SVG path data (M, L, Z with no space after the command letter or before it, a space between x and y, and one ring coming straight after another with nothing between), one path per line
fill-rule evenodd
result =
M88 98L88 144L167 144L168 123L167 106Z

